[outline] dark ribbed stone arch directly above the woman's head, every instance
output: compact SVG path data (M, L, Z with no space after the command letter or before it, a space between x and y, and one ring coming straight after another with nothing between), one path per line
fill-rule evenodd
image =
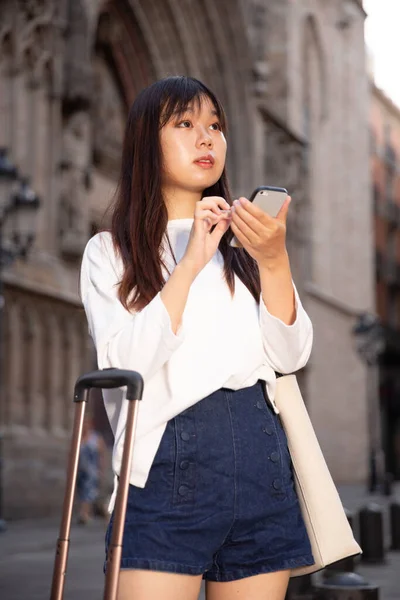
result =
M232 187L249 193L254 182L252 92L247 84L253 59L239 0L229 8L210 0L184 5L176 0L110 0L96 19L91 44L94 56L102 56L106 93L118 90L126 107L142 87L169 74L198 77L217 93L231 124Z

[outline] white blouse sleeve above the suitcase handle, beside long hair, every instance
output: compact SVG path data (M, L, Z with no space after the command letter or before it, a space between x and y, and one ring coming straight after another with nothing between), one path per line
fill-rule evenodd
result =
M141 311L126 310L118 299L121 261L115 255L111 235L89 240L82 259L80 288L89 333L97 351L98 367L132 369L151 377L171 357L184 339L177 334L160 293Z

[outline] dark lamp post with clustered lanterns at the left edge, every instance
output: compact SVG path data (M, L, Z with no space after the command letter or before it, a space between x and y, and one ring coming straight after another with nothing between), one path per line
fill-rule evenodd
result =
M17 258L27 258L35 239L34 217L39 205L39 198L29 187L29 180L19 177L16 167L8 159L7 150L0 148L0 531L6 527L3 518L3 270Z

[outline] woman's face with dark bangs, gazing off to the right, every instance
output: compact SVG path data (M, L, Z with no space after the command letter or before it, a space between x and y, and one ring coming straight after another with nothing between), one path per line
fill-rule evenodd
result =
M222 175L226 139L215 107L203 98L178 119L173 117L160 132L163 187L202 193Z

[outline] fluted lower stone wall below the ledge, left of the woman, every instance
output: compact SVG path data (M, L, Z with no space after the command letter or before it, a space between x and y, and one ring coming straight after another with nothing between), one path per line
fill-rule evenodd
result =
M93 353L82 308L11 286L5 299L4 516L45 516L61 506L74 384Z

